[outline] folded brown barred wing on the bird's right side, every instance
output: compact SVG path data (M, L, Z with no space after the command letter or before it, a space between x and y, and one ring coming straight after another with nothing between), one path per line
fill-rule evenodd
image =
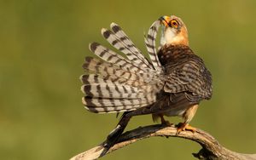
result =
M188 99L195 101L212 96L211 73L201 59L189 60L173 69L166 78L164 90L167 93L189 92Z

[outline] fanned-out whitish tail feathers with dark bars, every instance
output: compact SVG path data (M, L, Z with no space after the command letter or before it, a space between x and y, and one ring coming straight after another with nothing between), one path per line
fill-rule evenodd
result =
M102 29L102 35L125 57L99 43L90 43L90 51L99 59L85 57L85 74L80 77L84 84L81 90L85 94L82 99L85 108L109 113L133 111L153 104L164 86L163 71L157 65L159 60L151 55L150 60L145 58L117 24L112 23L110 27L112 31ZM154 31L157 28L155 23ZM148 31L148 35L155 37L154 31ZM152 38L147 41L154 43Z

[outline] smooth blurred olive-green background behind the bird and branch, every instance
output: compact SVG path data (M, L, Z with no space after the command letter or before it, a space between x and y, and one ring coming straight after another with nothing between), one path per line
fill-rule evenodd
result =
M68 159L102 142L118 119L82 106L88 43L110 47L100 30L114 21L145 52L143 32L170 14L183 19L190 47L212 71L212 100L192 125L231 150L256 153L256 1L1 0L0 158ZM134 117L128 129L148 124L150 116ZM200 148L152 138L102 159L193 159Z

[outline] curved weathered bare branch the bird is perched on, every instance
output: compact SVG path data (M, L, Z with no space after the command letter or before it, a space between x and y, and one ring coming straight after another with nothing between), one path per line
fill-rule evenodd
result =
M182 131L179 134L176 134L177 128L175 127L166 127L160 124L150 125L145 127L139 127L131 131L127 131L121 135L119 141L112 146L109 151L116 151L124 146L130 145L131 143L136 142L137 140L143 140L146 138L161 136L161 137L179 137L187 140L193 140L201 145L201 150L198 153L192 153L194 157L198 159L209 159L209 160L256 160L256 154L244 154L238 153L236 151L230 151L224 146L221 146L218 141L212 137L211 134L197 129L195 133L190 131ZM78 155L72 157L70 160L92 160L100 157L104 147L102 146L104 142L91 148L88 151L79 153Z

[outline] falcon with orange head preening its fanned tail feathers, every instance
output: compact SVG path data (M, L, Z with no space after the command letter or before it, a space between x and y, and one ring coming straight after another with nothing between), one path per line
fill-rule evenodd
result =
M110 27L102 28L102 36L122 54L100 43L90 43L89 49L96 57L85 57L85 73L80 77L82 102L88 111L123 112L108 134L104 154L119 140L131 117L139 115L151 114L154 122L160 119L164 125L171 124L165 117L182 117L177 134L183 130L195 132L189 123L201 100L212 97L212 75L189 48L183 20L171 15L154 21L144 35L148 58L119 25L111 23Z

